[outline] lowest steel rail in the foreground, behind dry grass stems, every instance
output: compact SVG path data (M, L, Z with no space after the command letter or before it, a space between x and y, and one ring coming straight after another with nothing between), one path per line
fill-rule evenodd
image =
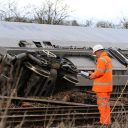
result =
M128 111L115 111L113 114L128 114ZM61 121L80 121L85 123L85 121L97 120L99 118L99 112L93 113L59 113L59 114L40 114L40 115L4 115L0 116L0 119L4 118L6 124L18 124L24 121L24 124L28 123L46 123L48 121L61 122ZM86 123L87 123L86 122Z

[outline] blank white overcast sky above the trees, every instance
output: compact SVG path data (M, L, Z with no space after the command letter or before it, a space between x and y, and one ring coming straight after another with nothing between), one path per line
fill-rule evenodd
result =
M40 5L43 0L15 0L19 6ZM64 0L73 10L72 18L78 21L105 20L118 23L123 17L128 19L128 0Z

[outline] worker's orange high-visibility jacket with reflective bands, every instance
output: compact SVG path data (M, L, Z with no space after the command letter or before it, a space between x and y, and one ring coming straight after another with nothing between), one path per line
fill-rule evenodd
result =
M92 91L112 91L112 61L106 52L101 53L97 59L96 69L91 76L94 79Z

